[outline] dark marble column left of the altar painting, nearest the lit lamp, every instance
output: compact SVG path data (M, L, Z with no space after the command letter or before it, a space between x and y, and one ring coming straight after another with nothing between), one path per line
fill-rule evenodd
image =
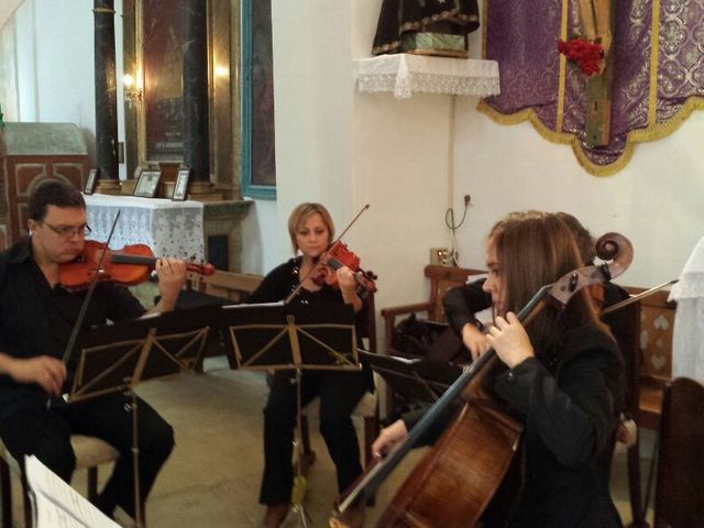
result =
M95 0L96 156L100 168L97 191L119 191L118 99L114 61L114 0Z

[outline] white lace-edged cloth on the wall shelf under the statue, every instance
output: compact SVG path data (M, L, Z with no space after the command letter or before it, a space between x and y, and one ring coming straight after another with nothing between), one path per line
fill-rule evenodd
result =
M360 91L393 91L399 99L409 98L413 92L480 97L501 94L496 61L400 53L354 63Z

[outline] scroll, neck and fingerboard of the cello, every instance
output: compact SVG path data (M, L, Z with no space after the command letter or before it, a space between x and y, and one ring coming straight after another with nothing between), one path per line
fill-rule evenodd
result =
M556 300L563 307L566 306L570 298L579 290L592 284L604 283L617 277L628 268L632 261L632 245L628 239L618 233L610 232L601 237L596 242L596 251L600 258L613 260L612 264L580 267L566 273L556 283L542 286L517 314L518 320L524 324L527 323L539 314L549 300ZM342 515L362 497L373 495L406 454L420 442L428 429L444 416L454 399L495 356L496 352L490 348L472 362L410 429L406 441L397 446L383 461L375 464L346 495L340 497L341 501L337 505L336 514Z

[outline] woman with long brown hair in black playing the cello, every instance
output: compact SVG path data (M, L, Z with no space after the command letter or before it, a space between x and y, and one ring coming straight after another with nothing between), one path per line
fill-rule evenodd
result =
M557 215L512 213L490 234L483 288L497 316L486 340L508 367L492 388L525 424L522 486L510 527L622 526L608 487L624 380L614 339L586 292L563 311L544 308L527 327L515 315L542 285L581 265L574 237ZM403 441L417 418L385 428L373 452Z

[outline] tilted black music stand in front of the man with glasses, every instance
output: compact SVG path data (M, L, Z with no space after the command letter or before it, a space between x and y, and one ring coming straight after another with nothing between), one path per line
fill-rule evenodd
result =
M140 501L136 395L143 380L195 372L219 306L175 310L135 321L94 327L78 340L78 359L69 404L122 392L131 397L134 507L144 526Z

